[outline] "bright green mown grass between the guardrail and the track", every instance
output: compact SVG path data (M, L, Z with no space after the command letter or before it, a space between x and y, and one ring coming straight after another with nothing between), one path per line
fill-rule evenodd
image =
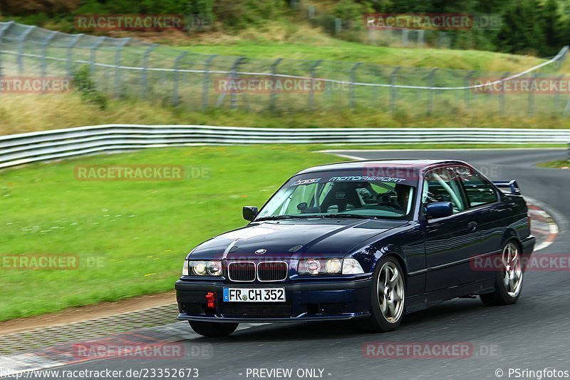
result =
M192 247L244 225L242 205L261 206L296 171L345 160L316 153L333 148L342 145L148 149L1 170L1 256L77 255L80 263L96 259L102 266L0 268L0 320L172 289ZM183 165L206 175L162 182L76 180L76 165L101 164Z

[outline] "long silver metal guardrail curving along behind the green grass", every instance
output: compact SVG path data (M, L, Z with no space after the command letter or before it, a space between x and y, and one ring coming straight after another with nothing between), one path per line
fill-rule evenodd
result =
M509 128L237 128L93 125L0 136L0 168L78 155L185 145L569 143L570 130Z

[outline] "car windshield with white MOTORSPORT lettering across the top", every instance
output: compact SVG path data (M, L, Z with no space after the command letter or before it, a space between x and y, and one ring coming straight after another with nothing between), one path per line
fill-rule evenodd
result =
M397 173L390 168L382 173ZM296 175L260 210L257 220L294 217L410 219L417 176L363 175L360 171ZM404 173L402 173L404 172Z

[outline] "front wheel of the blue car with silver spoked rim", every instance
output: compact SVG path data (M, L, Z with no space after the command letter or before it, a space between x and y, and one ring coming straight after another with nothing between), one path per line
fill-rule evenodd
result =
M397 329L405 312L405 272L395 257L380 259L371 289L371 317L359 322L361 329L366 332Z

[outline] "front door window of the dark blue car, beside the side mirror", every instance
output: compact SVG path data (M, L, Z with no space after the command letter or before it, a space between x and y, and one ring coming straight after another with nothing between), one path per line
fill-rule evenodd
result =
M451 202L454 214L466 209L455 171L437 168L425 175L423 203L432 202Z

